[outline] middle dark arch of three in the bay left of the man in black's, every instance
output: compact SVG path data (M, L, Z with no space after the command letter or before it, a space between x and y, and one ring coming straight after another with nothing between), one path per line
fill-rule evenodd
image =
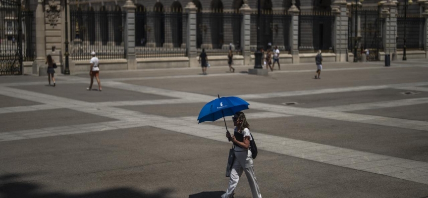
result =
M163 15L163 4L157 2L154 9L156 47L163 47L163 43L165 43L165 16Z

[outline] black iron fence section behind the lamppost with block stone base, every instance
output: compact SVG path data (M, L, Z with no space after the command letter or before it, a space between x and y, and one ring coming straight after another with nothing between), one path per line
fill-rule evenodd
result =
M251 41L250 50L252 52L257 50L257 12L251 14ZM281 53L289 53L289 29L291 24L291 15L286 12L276 13L271 10L264 10L260 14L260 46L265 50L272 49L277 46Z

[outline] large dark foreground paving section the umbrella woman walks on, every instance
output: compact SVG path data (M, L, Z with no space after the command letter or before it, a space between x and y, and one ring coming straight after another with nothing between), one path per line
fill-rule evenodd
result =
M0 191L7 197L55 198L217 195L227 188L224 156L229 148L230 143L152 127L4 142ZM424 184L263 150L254 167L264 197L428 194ZM241 180L236 197L251 197L245 175Z

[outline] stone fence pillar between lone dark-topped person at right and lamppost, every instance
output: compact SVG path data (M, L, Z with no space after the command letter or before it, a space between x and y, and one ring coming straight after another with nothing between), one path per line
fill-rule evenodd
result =
M333 48L336 53L336 62L347 61L348 16L345 0L335 0L331 5L331 11L335 16L333 25Z

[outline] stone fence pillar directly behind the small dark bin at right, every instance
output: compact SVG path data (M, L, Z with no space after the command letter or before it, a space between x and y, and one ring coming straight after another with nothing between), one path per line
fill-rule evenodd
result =
M397 59L397 4L388 0L382 6L382 17L385 18L383 32L383 50L391 60Z

